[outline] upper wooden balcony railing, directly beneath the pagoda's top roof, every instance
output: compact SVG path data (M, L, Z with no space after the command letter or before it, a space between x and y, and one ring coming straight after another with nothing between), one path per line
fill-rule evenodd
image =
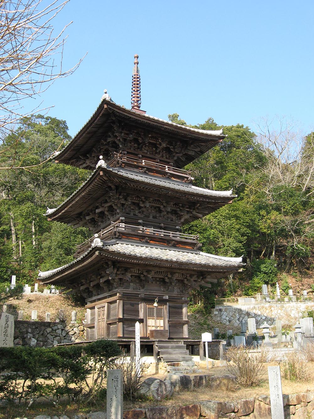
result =
M194 179L187 170L122 153L114 154L115 156L108 161L108 165L111 167L133 168L154 176L171 178L187 183L190 183Z

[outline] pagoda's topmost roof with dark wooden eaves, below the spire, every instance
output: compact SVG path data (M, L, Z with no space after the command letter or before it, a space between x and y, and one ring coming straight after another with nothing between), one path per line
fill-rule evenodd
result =
M117 105L113 101L104 98L89 121L86 122L69 144L63 150L54 154L56 161L73 166L78 165L78 163L75 163L77 156L79 155L81 158L86 157L93 147L100 140L103 140L104 134L108 132L111 124L116 119L131 126L133 125L137 129L146 128L154 131L156 134L159 133L172 137L177 141L197 143L198 149L193 152L192 157L190 154L183 154L175 160L175 166L179 168L186 166L192 160L206 153L206 151L226 137L222 134L222 129L209 131L175 124L174 122L126 109L124 106Z

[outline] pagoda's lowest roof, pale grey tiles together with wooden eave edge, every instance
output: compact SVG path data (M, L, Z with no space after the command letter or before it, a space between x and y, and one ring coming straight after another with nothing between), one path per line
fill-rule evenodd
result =
M96 238L92 246L74 261L50 271L39 271L39 278L44 282L62 282L74 271L88 269L88 265L102 264L103 257L140 265L168 266L178 269L213 272L214 278L226 276L226 272L237 272L245 264L239 258L216 256L197 250L180 250L147 243L134 243L113 239L103 241ZM98 261L96 261L98 259Z

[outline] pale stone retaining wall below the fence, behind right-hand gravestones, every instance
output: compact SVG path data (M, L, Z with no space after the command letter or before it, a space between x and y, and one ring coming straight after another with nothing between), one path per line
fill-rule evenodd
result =
M314 302L278 303L278 304L250 304L250 305L224 305L216 306L213 309L214 321L230 326L240 326L240 321L247 321L248 318L256 319L256 326L259 328L264 322L273 325L276 320L283 324L294 325L302 318L302 313L307 310L314 310Z

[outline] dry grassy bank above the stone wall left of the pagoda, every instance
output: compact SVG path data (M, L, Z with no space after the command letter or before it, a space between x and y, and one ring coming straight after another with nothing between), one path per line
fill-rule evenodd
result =
M77 321L81 323L85 316L85 308L77 306L72 303L68 297L63 295L45 295L45 294L29 294L23 295L21 300L12 300L8 304L8 312L18 318L18 310L23 310L23 320L31 320L32 310L37 310L37 319L39 321L45 320L46 312L51 313L51 321L56 321L58 312L62 309L64 311L67 321L71 321L71 312L77 311Z

